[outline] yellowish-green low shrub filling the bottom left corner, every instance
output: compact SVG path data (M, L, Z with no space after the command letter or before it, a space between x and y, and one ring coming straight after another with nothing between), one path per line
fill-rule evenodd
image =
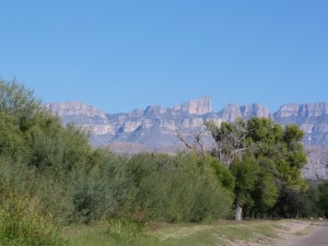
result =
M0 245L63 246L58 227L37 212L37 201L7 190L0 203Z

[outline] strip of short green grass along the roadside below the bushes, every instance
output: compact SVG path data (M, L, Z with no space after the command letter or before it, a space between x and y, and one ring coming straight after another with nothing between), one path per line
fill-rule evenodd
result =
M279 221L219 221L211 224L165 224L140 226L130 221L110 224L73 225L62 235L75 246L213 246L238 242L266 243L278 237Z

